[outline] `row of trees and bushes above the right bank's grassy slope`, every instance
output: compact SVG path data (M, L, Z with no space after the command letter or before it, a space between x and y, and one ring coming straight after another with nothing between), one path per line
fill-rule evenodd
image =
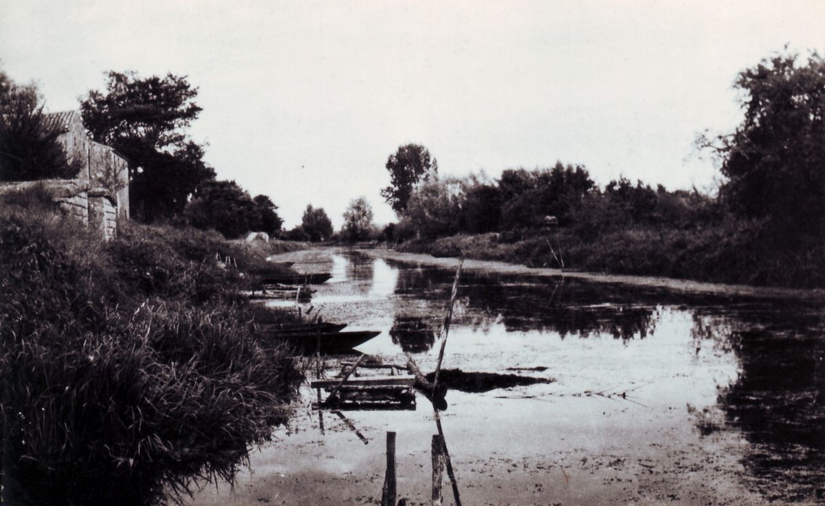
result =
M575 229L592 238L632 226L691 228L719 220L757 220L794 239L821 236L825 226L825 62L817 53L780 54L738 75L744 119L730 134L701 135L700 149L719 160L718 196L668 191L625 177L596 186L582 165L512 168L440 177L420 144L387 161L382 194L398 213L394 239L433 239L542 229Z

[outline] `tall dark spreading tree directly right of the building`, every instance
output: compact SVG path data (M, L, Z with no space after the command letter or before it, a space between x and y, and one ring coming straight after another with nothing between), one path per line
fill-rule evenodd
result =
M131 214L153 221L180 213L196 187L214 178L203 147L186 133L201 110L197 88L171 73L107 76L106 92L89 91L81 112L92 139L129 160Z

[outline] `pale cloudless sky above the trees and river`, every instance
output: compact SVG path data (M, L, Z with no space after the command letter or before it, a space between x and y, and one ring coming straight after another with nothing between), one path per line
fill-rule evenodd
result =
M108 70L186 75L191 137L222 179L336 227L387 157L423 144L440 173L583 164L711 192L696 135L733 130L737 73L789 45L825 52L825 2L0 0L0 69L50 111Z

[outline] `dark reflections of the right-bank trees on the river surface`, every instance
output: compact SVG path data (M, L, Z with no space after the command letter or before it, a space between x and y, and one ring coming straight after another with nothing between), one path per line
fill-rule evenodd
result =
M399 266L400 267L400 266ZM453 272L400 269L395 293L448 300ZM713 353L733 353L739 375L719 390L719 425L701 434L737 430L750 443L742 464L747 487L790 502L825 497L825 322L823 309L794 300L732 299L642 286L552 277L465 272L454 324L507 331L540 330L562 338L652 337L663 310L693 314L695 356L711 340ZM424 352L437 325L397 319L390 332L406 351Z

